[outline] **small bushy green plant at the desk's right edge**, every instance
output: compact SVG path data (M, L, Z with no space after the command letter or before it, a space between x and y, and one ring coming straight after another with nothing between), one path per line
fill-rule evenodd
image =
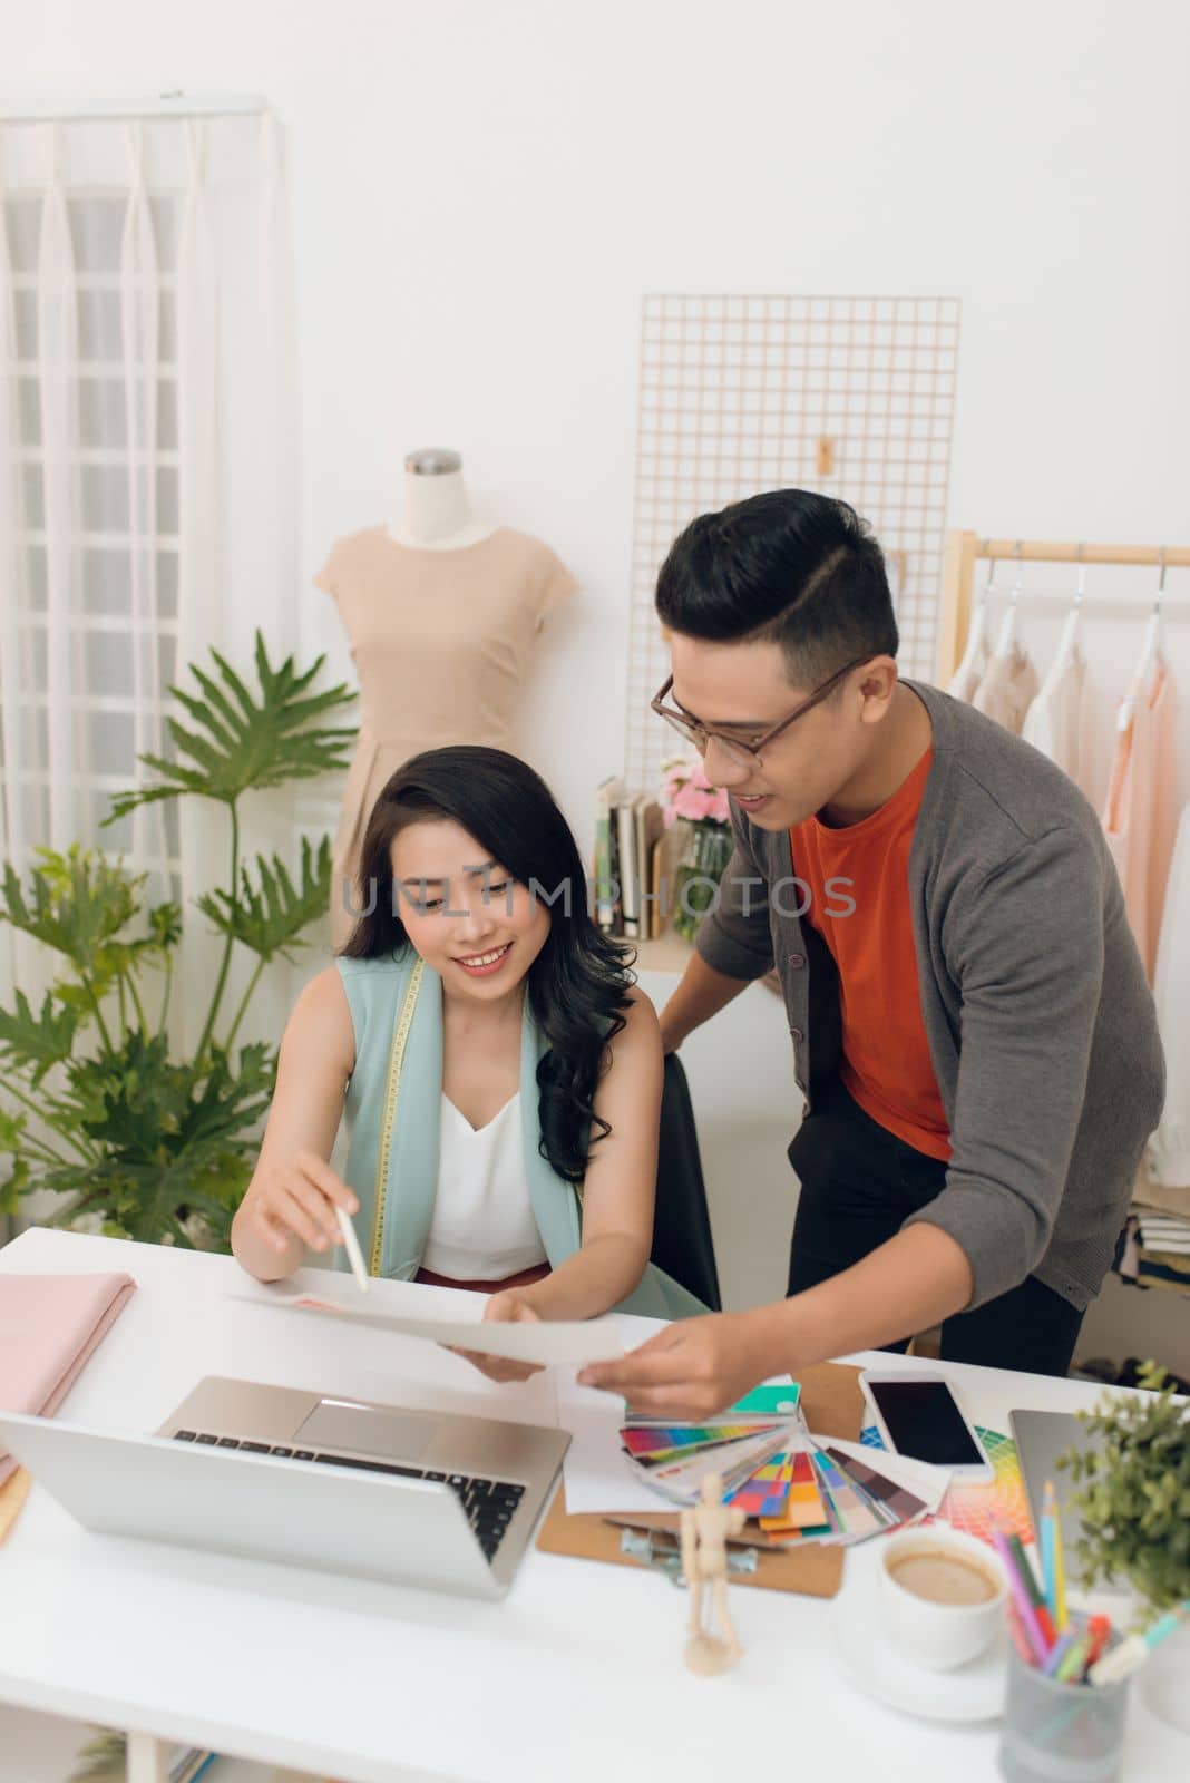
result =
M1128 1578L1153 1610L1190 1598L1190 1417L1165 1369L1145 1362L1137 1393L1080 1412L1096 1439L1058 1462L1083 1517L1080 1562L1088 1583Z

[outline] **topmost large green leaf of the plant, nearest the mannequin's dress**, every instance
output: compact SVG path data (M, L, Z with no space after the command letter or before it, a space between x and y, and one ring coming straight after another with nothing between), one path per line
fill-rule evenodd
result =
M305 674L298 674L292 656L274 669L258 631L258 695L249 694L219 651L212 649L210 656L217 678L191 663L200 692L169 690L196 726L187 729L176 719L169 720L178 760L141 756L160 776L160 785L118 793L107 824L157 799L198 793L233 804L246 792L347 767L346 749L356 735L355 727L317 720L351 704L355 694L346 683L322 694L306 692L322 669L322 656Z

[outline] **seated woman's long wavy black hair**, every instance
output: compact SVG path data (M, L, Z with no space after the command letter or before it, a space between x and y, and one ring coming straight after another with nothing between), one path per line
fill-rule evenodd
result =
M392 842L410 824L444 818L547 902L549 936L527 975L529 1007L549 1043L538 1063L542 1155L566 1182L581 1182L588 1146L611 1132L593 1100L607 1045L625 1025L634 956L591 920L577 843L540 774L502 749L474 744L428 749L397 768L367 820L358 868L363 915L342 954L378 959L408 945Z

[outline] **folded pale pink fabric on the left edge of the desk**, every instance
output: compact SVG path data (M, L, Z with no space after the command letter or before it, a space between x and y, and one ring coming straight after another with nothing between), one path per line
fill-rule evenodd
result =
M0 1407L52 1417L135 1286L118 1273L0 1273ZM14 1469L0 1450L0 1485Z

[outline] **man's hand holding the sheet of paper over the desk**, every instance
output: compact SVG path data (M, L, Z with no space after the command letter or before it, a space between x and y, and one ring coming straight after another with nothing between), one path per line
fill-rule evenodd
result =
M622 1362L579 1373L584 1387L622 1393L634 1412L704 1421L773 1373L746 1312L677 1319Z

